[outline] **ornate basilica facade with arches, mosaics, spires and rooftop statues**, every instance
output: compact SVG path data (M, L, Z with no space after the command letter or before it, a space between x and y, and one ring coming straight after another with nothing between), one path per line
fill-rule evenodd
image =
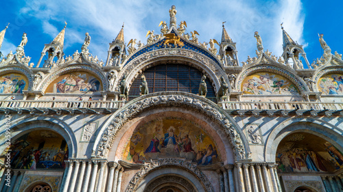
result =
M1 192L343 191L342 55L320 35L309 64L281 26L283 55L256 31L239 62L224 23L199 42L176 13L106 61L88 33L64 55L64 27L34 67L23 34L0 60Z

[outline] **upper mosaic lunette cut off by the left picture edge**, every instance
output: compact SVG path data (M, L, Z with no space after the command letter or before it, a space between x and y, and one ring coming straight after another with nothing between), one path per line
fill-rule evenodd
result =
M0 94L21 94L29 87L23 74L10 73L0 77Z

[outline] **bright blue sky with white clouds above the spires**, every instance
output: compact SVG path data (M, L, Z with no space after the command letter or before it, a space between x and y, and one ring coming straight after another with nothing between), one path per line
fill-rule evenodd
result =
M246 61L248 55L255 57L256 40L254 31L259 31L264 49L273 55L282 54L282 33L280 24L299 44L303 44L307 59L311 63L321 57L322 49L318 33L324 33L324 40L332 53L343 53L342 5L343 1L113 1L102 0L18 0L5 1L1 5L0 31L10 23L5 34L1 52L7 55L15 52L23 32L28 42L25 53L36 65L44 44L53 40L67 21L64 39L64 54L80 52L84 33L91 36L88 46L93 55L106 60L108 43L111 42L125 23L124 35L128 43L136 38L146 43L149 30L160 31L161 20L169 23L169 8L176 5L176 18L187 22L187 32L200 33L200 42L215 38L220 42L222 22L234 42L237 42L239 61Z

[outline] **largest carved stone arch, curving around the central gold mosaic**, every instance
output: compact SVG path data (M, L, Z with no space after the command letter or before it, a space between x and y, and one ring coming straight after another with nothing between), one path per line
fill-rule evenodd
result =
M191 107L208 115L212 120L221 125L222 131L232 144L235 160L250 159L250 150L244 134L241 129L236 128L231 123L235 121L223 109L220 109L217 105L211 105L205 98L183 92L177 95L175 92L165 92L163 96L159 94L141 96L119 109L113 114L113 120L104 128L103 133L100 133L97 137L95 141L97 146L93 148L92 157L105 158L107 156L118 131L125 122L134 118L145 109L163 105Z

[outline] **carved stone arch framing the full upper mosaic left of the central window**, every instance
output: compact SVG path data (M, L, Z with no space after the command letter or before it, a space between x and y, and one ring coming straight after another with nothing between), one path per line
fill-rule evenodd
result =
M43 79L42 83L38 85L40 91L45 91L47 86L54 81L54 79L58 78L60 75L67 73L67 72L73 72L73 71L86 71L86 72L91 72L91 74L95 74L96 77L101 79L102 81L102 87L103 90L107 90L107 85L108 85L108 80L106 79L106 76L103 72L100 70L97 70L95 68L92 68L91 66L86 66L86 65L78 65L78 66L69 66L66 68L62 68L60 70L57 70L56 72L47 75L45 79Z

